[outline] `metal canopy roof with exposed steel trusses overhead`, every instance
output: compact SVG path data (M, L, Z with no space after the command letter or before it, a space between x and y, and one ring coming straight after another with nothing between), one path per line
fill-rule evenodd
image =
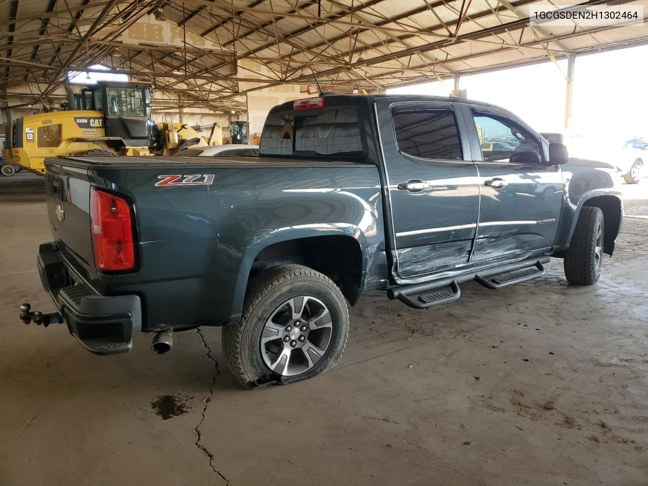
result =
M240 109L239 82L312 84L340 93L452 78L648 41L648 23L529 27L548 0L5 0L0 89L51 94L70 69L103 64L187 106ZM565 5L603 5L603 1ZM643 5L648 0L615 1ZM153 20L153 17L157 20ZM173 43L128 41L139 19L170 23ZM157 31L156 31L157 32ZM240 60L267 69L251 73ZM269 73L269 74L268 74Z

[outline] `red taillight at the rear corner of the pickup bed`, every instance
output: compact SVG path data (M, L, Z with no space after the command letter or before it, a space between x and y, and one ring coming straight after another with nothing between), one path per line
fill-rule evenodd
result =
M133 211L115 194L90 191L90 224L97 270L124 271L135 268Z

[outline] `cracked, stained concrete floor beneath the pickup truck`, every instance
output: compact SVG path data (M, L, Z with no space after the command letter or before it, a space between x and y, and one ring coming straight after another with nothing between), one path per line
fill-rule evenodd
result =
M428 311L367 295L336 369L244 391L218 329L99 357L21 324L23 301L50 308L34 264L50 234L42 179L15 177L0 178L0 485L648 484L648 219L627 218L596 286L568 286L557 260ZM646 187L626 187L629 214L648 218Z

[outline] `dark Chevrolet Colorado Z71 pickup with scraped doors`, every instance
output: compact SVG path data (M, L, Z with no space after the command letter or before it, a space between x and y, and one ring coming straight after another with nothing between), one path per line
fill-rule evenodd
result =
M459 98L332 95L266 119L260 157L48 159L53 242L38 268L91 353L223 326L243 386L334 366L347 302L380 289L424 309L534 279L550 257L594 284L621 228L619 179L567 164L512 113Z

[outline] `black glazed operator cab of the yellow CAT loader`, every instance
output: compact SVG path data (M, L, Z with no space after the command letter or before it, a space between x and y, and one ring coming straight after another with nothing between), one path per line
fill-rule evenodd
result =
M106 137L128 146L156 146L157 125L151 119L152 86L146 83L98 81L80 93L83 110L104 112Z

